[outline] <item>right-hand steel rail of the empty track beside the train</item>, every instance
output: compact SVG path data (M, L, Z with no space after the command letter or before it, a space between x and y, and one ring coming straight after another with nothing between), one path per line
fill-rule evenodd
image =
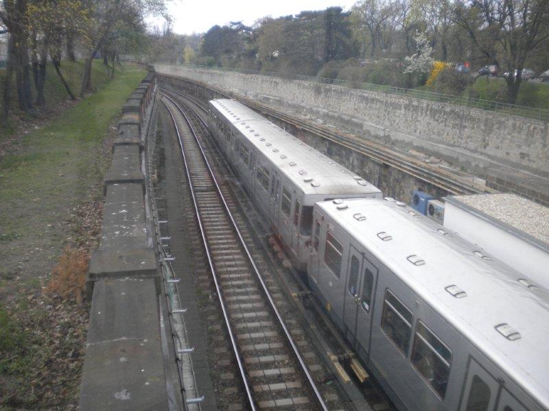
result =
M226 202L226 199L225 199L225 196L223 195L223 192L221 190L221 187L218 183L218 180L215 178L215 175L213 173L213 170L211 169L211 166L209 164L209 161L206 157L206 154L205 154L205 151L204 149L202 148L202 145L200 144L200 141L198 140L198 136L196 135L196 132L194 131L194 127L191 125L191 122L189 121L187 115L185 114L185 112L183 112L183 110L180 108L180 106L169 96L161 93L161 95L165 96L167 99L170 99L170 101L172 101L172 103L176 106L176 108L178 108L178 110L180 111L180 113L183 115L183 117L185 118L185 120L187 121L187 124L189 125L189 128L191 129L191 132L196 140L196 143L198 145L198 148L200 149L200 153L202 153L202 158L204 159L205 161L205 164L207 166L207 169L209 171L209 174L211 175L211 178L213 180L213 183L215 184L215 187L217 188L218 190L218 194L220 195L220 199L222 200L222 203L225 207L225 210L226 210L226 213L227 213L227 216L229 216L229 219L231 220L231 223L233 225L233 228L235 229L235 232L238 236L238 238L240 239L240 243L246 253L246 256L248 258L248 261L250 262L251 266L253 267L253 271L255 272L255 275L257 276L257 279L259 281L259 283L261 284L261 288L264 292L264 294L266 295L269 303L270 303L270 307L272 308L272 311L274 312L274 314L277 316L277 320L279 321L279 325L281 326L281 328L283 329L283 332L286 336L286 339L288 340L288 343L290 344L290 346L292 347L292 351L294 351L294 355L296 356L297 360L299 361L299 364L301 366L301 369L303 371L303 373L305 374L305 377L307 378L307 382L309 382L309 386L312 388L313 392L314 392L314 395L316 397L316 400L318 402L318 405L320 406L320 408L322 408L324 411L327 411L328 408L326 406L326 403L322 397L322 395L320 394L320 391L318 390L318 387L316 386L315 382L314 382L314 379L312 377L312 375L309 373L309 370L307 369L307 365L305 364L305 360L303 360L303 357L301 356L301 354L299 353L299 349L297 348L297 345L294 341L294 339L292 338L291 334L290 334L290 331L288 330L288 327L286 327L285 323L284 323L284 320L282 319L282 316L276 306L276 304L274 303L274 299L272 299L272 296L270 295L270 292L268 290L268 287L267 285L265 284L264 282L264 279L263 277L261 277L261 274L259 273L259 269L257 268L257 265L255 264L255 260L253 259L253 256L250 252L250 249L248 249L248 246L246 245L246 241L244 240L243 236L242 236L242 233L240 232L240 229L238 228L238 225L235 221L235 218L233 216L233 213L231 212L230 208L229 208L229 204ZM167 105L166 105L167 106ZM188 175L188 170L187 170L187 175ZM190 176L189 176L189 182L190 182ZM194 199L195 201L195 199ZM197 211L198 211L198 208L197 208ZM218 287L218 284L216 282L216 288ZM220 300L221 301L221 300ZM225 310L224 310L225 311Z

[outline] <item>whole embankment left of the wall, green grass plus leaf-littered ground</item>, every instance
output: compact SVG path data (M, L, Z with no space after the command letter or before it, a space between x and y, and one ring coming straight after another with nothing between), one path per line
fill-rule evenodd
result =
M63 69L71 84L78 84L82 64L64 62ZM108 166L103 140L143 75L126 68L106 82L106 72L96 64L95 85L103 86L22 136L21 145L0 162L0 409L75 401L82 330L71 330L70 313L61 325L49 323L56 321L55 310L67 309L44 303L40 286L65 244L75 240L69 215L102 197ZM52 77L50 72L47 98L65 98Z

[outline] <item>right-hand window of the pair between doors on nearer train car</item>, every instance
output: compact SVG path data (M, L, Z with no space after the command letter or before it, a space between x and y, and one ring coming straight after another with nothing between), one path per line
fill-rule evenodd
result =
M412 346L412 364L441 398L446 394L451 360L452 351L418 321Z

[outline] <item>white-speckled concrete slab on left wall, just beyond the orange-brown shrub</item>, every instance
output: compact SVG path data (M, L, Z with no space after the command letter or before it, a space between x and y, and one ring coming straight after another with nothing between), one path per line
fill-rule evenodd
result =
M141 184L111 184L107 187L102 227L102 250L148 245Z

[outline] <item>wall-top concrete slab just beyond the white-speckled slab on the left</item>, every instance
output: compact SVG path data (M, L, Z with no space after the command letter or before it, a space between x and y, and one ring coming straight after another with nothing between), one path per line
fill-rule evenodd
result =
M145 192L145 178L141 173L139 147L135 145L118 145L113 152L113 164L105 176L104 195L109 184L139 183Z

